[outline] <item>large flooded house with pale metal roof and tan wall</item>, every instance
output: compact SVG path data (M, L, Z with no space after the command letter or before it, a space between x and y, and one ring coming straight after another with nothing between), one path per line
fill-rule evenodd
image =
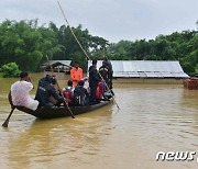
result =
M183 83L189 78L179 61L169 60L110 60L113 82ZM88 63L88 67L91 61ZM97 69L102 65L98 60Z

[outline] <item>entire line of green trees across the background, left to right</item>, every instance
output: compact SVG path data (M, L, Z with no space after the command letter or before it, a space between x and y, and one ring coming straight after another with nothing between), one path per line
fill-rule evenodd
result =
M109 44L92 36L81 25L72 27L90 58L132 60L179 60L186 72L198 72L198 32L183 31L158 35L155 40L120 41ZM0 67L16 63L21 70L37 71L51 59L79 60L86 68L86 56L73 37L68 26L55 23L38 26L37 20L4 21L0 24Z

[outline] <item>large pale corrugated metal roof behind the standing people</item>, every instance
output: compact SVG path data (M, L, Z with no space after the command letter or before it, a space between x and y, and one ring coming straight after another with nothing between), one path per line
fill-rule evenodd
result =
M169 60L110 60L113 77L127 78L188 78L179 61ZM88 67L91 61L88 61ZM102 65L98 60L97 69Z

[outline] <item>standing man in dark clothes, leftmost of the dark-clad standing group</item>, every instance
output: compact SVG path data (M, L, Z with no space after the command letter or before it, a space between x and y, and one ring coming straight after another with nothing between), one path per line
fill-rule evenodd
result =
M90 104L97 103L96 91L99 81L101 81L101 79L99 78L97 71L97 59L94 59L92 66L89 67Z

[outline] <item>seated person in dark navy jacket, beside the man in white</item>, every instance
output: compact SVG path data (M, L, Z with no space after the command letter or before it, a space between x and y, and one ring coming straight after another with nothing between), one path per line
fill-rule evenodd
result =
M40 102L38 106L54 106L64 103L64 99L56 92L55 88L52 86L53 77L46 75L38 81L37 91L35 99ZM57 102L53 104L50 98L53 97Z

